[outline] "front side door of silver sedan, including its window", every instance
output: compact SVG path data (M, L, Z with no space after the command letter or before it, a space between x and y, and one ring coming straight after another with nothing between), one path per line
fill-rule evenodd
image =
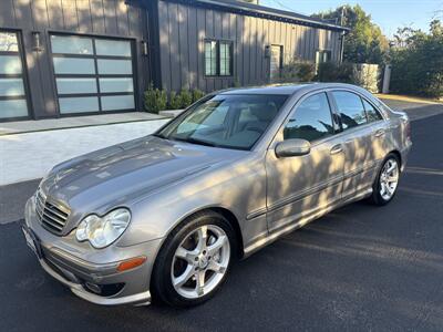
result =
M270 231L302 221L341 199L344 155L341 137L334 135L326 93L301 101L277 134L275 143L290 138L309 141L311 152L305 156L277 158L274 148L268 151Z

